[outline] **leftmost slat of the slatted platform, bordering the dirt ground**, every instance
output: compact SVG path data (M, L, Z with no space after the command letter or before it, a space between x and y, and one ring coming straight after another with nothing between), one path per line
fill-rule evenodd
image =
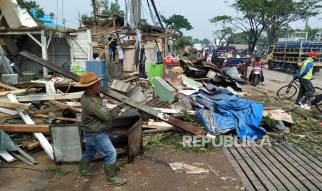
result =
M235 170L236 174L238 175L238 177L242 181L245 189L246 190L255 190L255 188L253 187L253 185L251 184L251 182L247 178L246 174L244 174L244 172L242 171L240 165L237 163L237 161L235 161L235 158L233 157L233 155L229 151L228 147L222 147L222 151L224 152L224 154L228 158L229 163L231 163L231 165L233 166L233 169Z

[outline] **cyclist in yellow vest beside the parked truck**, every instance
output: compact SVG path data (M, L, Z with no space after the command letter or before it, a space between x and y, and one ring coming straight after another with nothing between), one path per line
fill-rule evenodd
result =
M310 99L314 94L314 87L310 81L313 73L313 62L314 58L319 55L316 52L310 52L309 57L304 60L300 69L297 72L297 78L300 82L300 91L296 98L296 104L300 105L301 108L310 110Z

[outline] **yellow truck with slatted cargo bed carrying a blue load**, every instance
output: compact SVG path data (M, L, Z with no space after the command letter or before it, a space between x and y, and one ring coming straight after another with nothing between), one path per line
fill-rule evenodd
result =
M322 53L322 42L281 42L270 46L267 51L268 69L285 69L288 73L294 73L310 51ZM314 59L313 73L320 71L322 58Z

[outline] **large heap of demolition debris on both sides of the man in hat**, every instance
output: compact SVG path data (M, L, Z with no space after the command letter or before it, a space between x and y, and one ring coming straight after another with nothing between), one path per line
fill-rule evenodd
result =
M83 92L73 87L73 83L80 76L26 51L19 54L60 76L40 81L41 84L0 84L3 91L0 93L0 129L6 132L1 131L6 135L1 136L4 142L0 144L0 156L8 162L15 156L28 164L37 163L20 147L39 149L41 146L53 161L79 161L82 154L79 98ZM118 153L127 152L129 161L143 150L142 134L186 131L214 138L235 131L240 140L258 140L266 134L261 127L265 124L285 130L284 124L294 123L292 116L280 107L265 109L263 104L248 100L239 84L245 83L240 75L208 62L181 60L181 68L184 70L172 70L171 78L160 75L144 80L134 73L110 80L110 88L102 87L107 107L116 107L122 98L129 106L114 120L115 131L109 134L114 145L120 146ZM152 80L154 87L149 82Z

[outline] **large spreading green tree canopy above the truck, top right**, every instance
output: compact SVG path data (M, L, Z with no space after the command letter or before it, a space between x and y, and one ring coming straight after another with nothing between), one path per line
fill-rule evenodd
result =
M242 17L221 15L210 21L230 24L247 33L249 52L253 53L258 38L267 30L269 41L276 38L278 28L292 21L316 15L319 0L236 0L232 7L242 13Z

